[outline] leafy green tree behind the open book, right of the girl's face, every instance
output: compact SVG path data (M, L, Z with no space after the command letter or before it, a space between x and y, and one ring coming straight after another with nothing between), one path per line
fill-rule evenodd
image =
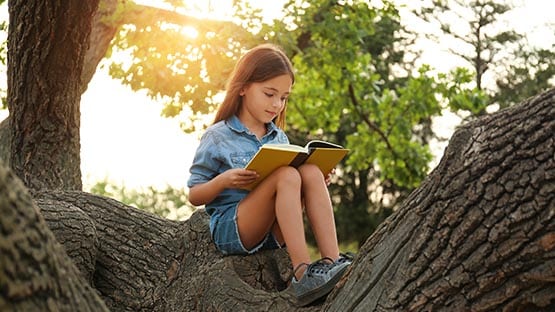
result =
M294 143L318 137L351 149L330 192L340 241L362 244L426 177L432 118L455 105L482 109L486 98L468 71L416 67L414 34L392 3L291 1L286 11L265 37L297 70L287 130Z

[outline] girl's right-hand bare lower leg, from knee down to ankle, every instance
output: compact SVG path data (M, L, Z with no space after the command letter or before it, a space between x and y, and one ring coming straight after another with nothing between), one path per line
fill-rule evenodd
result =
M335 219L324 175L315 165L299 168L306 213L322 257L339 258Z

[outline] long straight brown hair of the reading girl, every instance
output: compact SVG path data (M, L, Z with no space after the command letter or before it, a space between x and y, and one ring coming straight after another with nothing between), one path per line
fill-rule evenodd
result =
M295 82L291 61L278 46L266 43L249 50L239 59L231 73L224 101L218 108L214 123L226 120L239 112L242 102L240 92L244 87L253 82L262 82L285 74ZM276 125L282 129L285 128L286 108L287 103L274 119Z

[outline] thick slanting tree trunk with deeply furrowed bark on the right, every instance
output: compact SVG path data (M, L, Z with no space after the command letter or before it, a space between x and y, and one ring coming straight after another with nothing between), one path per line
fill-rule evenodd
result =
M326 311L554 311L555 89L456 131Z

